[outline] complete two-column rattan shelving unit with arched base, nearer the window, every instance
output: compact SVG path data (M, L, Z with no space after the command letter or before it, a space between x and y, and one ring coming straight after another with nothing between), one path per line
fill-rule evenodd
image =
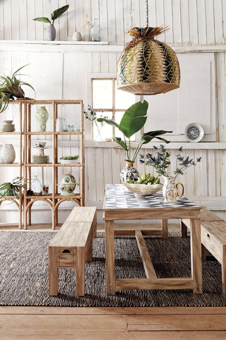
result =
M56 118L58 117L58 105L78 104L81 106L81 131L80 132L56 132ZM32 105L53 105L53 128L52 131L35 132L31 131L31 106ZM83 100L26 100L24 102L24 178L28 179L28 184L24 187L24 229L27 224L31 224L31 207L36 201L44 201L49 204L52 210L52 228L58 224L58 207L63 201L73 201L78 206L84 206L84 104ZM31 163L32 135L52 135L53 162L47 164ZM80 163L60 164L58 163L58 136L59 135L80 135ZM48 196L28 196L27 189L31 184L31 167L52 167L53 171L53 192ZM58 167L80 167L80 193L72 196L61 196L58 193Z

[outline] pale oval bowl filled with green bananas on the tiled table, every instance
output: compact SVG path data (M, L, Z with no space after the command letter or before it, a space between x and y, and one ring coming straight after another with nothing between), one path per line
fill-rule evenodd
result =
M150 196L162 189L159 177L150 176L145 172L138 177L137 183L134 184L130 179L124 182L126 188L136 196Z

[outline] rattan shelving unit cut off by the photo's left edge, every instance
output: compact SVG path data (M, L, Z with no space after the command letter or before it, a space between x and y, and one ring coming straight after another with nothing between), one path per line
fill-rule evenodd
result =
M23 172L23 161L22 161L22 135L23 135L23 129L22 129L22 105L24 104L23 100L11 100L9 101L9 105L19 105L19 131L15 132L3 132L0 131L0 135L19 135L19 163L11 163L11 164L5 164L0 163L0 167L18 167L19 168L19 177L22 177ZM7 140L6 140L7 142ZM12 180L12 179L11 179ZM12 198L12 196L5 196L0 199L0 205L3 201L11 201L14 202L19 210L19 229L22 229L22 208L23 208L23 194L22 194L22 188L19 189L19 197Z

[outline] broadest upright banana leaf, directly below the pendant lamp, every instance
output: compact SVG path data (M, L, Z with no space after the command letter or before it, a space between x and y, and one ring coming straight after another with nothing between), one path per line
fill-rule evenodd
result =
M122 116L119 130L124 136L130 138L140 131L147 120L148 102L143 100L131 105Z

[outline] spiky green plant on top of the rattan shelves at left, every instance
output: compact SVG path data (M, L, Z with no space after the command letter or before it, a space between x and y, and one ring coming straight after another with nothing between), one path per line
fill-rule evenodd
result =
M35 89L32 85L24 81L21 81L20 79L17 79L17 76L21 75L18 72L27 65L20 67L15 72L13 72L12 70L9 75L5 75L3 73L4 76L3 75L0 76L0 81L1 81L0 83L0 112L5 111L5 109L8 106L9 100L14 100L14 97L30 99L30 98L24 97L24 90L21 88L21 85L29 86L35 92Z

